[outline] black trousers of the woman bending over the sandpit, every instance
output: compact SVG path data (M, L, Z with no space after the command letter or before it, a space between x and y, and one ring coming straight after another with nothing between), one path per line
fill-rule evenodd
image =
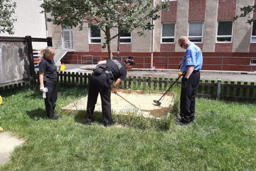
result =
M112 114L111 114L111 89L104 86L106 80L106 73L102 72L100 75L93 74L88 92L87 100L87 123L94 121L93 112L95 109L95 104L97 103L98 95L101 98L101 108L103 115L104 126L112 125Z

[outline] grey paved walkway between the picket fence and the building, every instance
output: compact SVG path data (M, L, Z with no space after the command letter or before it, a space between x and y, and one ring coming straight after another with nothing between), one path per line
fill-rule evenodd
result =
M72 65L66 64L66 72L86 72L92 73L96 65ZM177 78L177 70L157 70L157 69L133 69L127 76L152 76ZM201 79L223 81L245 81L256 82L256 72L244 71L201 71Z

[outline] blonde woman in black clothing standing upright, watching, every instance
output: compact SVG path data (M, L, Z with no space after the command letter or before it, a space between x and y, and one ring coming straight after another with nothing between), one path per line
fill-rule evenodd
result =
M46 113L49 119L59 119L54 113L57 102L57 67L53 61L55 51L52 47L46 47L41 51L41 61L39 63L39 82L40 91L46 92L45 106Z

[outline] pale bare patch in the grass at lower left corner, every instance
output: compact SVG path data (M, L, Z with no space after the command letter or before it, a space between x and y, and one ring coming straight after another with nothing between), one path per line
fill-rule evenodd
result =
M7 132L0 133L0 164L9 161L14 148L23 142L24 139L18 139Z

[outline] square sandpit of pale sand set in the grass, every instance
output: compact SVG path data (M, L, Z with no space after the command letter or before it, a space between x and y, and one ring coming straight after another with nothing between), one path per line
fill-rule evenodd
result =
M150 118L161 118L170 112L174 104L175 96L172 93L166 93L161 99L161 105L157 106L153 100L159 100L164 92L145 92L145 91L132 91L132 90L118 90L118 93L123 96L126 100L138 106L139 111L125 101L118 95L111 94L111 108L116 114L127 115L129 113L136 113L137 115L143 115L144 117ZM84 97L74 103L71 103L63 108L62 110L75 110L75 111L86 111L87 97ZM101 100L100 95L98 96L97 103L95 105L95 111L101 112Z

